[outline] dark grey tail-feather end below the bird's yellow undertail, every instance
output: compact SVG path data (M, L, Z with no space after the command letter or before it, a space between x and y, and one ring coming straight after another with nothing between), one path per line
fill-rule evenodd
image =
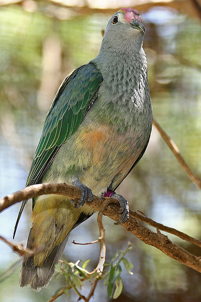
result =
M31 230L29 239L31 239ZM28 243L31 242L28 239ZM34 256L24 258L20 274L20 286L31 286L32 289L39 291L42 287L47 286L54 273L54 265L58 262L63 254L68 236L64 241L56 246L44 261L42 266L34 265ZM29 248L29 244L27 246Z

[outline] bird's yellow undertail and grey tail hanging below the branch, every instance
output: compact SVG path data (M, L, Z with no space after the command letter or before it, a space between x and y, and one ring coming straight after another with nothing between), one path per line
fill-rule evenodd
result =
M54 266L63 254L68 234L91 214L80 213L68 200L60 196L40 196L33 209L27 248L41 250L24 258L20 285L39 291L54 273Z

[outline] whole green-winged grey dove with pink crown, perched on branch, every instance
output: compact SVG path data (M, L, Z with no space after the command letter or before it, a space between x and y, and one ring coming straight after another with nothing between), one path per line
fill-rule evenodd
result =
M92 194L117 198L117 223L128 218L128 202L114 191L143 156L151 133L144 32L136 10L115 13L98 55L68 75L53 100L26 185L66 182L81 189L81 198L33 199L27 247L42 250L24 259L21 286L38 291L47 285L67 235L94 212L87 205Z

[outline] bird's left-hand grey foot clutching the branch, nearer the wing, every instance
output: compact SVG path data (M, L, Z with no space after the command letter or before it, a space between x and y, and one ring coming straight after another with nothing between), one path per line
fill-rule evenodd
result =
M93 201L93 194L91 192L91 189L89 189L84 184L82 184L78 178L75 178L75 180L72 182L72 184L81 190L81 197L79 198L79 200L74 200L74 199L70 200L73 207L79 208L85 202L91 203Z

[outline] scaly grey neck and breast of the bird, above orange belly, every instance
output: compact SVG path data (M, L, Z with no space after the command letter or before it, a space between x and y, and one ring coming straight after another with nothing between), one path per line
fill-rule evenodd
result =
M118 119L120 126L131 126L151 106L146 55L142 45L136 49L136 44L129 44L124 53L114 49L103 41L100 52L91 61L104 78L97 106L102 106L103 118L110 122Z

